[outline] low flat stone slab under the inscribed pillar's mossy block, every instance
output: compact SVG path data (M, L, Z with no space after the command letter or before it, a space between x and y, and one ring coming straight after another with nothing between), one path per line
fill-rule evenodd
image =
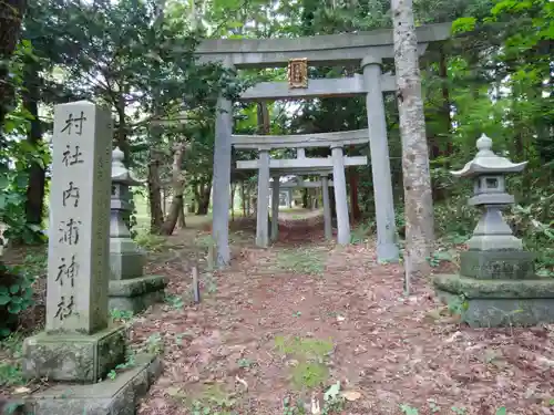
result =
M21 401L24 414L134 415L138 398L160 376L162 364L153 355L137 355L135 365L113 380L90 385L58 384ZM17 403L17 402L14 402Z

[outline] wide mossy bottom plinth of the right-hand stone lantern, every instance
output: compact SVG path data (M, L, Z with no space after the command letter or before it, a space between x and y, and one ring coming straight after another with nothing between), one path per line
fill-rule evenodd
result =
M463 297L462 321L473 328L530 326L554 322L554 279L480 280L439 274L441 301Z

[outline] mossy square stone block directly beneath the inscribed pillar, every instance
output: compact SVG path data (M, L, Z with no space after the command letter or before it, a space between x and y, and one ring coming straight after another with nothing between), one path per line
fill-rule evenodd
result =
M23 375L94 383L125 362L126 332L113 326L93 334L41 332L23 342Z

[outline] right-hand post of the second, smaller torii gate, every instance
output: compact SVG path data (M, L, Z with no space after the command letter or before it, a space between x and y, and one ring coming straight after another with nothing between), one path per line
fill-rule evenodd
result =
M335 203L337 205L337 242L350 243L350 220L348 218L348 196L346 190L345 156L342 146L331 147L332 180L335 184Z

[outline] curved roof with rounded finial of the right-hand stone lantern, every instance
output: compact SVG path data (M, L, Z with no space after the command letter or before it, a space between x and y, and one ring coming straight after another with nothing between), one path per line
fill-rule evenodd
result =
M465 164L461 170L450 172L455 177L473 177L483 174L519 173L527 162L512 163L506 157L500 157L492 152L492 139L482 134L478 139L479 153Z

